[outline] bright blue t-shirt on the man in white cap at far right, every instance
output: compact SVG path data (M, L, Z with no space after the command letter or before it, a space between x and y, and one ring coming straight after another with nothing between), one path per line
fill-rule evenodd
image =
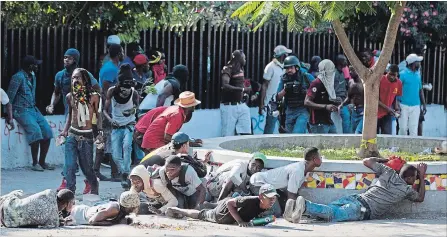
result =
M400 102L406 106L416 106L421 104L419 98L419 91L422 89L421 74L413 72L406 68L400 73L400 80L402 81L402 96L399 98Z

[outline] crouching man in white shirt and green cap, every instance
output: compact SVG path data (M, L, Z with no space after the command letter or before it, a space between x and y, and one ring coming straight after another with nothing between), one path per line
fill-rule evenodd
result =
M206 178L206 189L210 198L220 201L234 192L250 194L247 188L250 185L250 177L264 169L266 162L267 157L264 154L255 152L250 160L236 159L223 164Z

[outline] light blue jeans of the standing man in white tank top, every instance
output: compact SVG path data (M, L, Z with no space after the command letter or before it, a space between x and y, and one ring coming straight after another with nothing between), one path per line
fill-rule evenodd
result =
M133 127L126 126L112 130L112 157L122 174L130 173L134 129Z

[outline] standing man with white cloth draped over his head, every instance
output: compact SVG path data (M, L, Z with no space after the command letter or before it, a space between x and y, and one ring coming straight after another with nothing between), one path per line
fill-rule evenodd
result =
M337 111L334 89L335 65L325 59L318 65L319 74L310 83L304 106L311 109L309 124L311 133L335 133L331 112ZM340 103L338 103L340 104Z

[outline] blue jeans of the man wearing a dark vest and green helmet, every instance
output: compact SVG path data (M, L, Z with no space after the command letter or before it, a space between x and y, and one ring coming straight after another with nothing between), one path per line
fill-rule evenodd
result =
M309 111L307 108L286 109L286 129L287 133L306 133L307 122L309 122Z

